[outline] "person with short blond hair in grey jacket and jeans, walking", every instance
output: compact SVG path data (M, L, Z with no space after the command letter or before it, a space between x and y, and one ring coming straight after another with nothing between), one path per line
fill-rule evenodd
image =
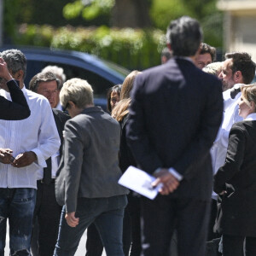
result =
M118 184L119 123L93 105L93 91L85 80L67 80L60 96L72 119L64 130L60 177L64 177L65 207L54 255L74 255L84 230L94 223L107 254L124 256L128 190Z

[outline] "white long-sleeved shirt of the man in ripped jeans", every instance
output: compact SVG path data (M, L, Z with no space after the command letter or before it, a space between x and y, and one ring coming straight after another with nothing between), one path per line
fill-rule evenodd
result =
M48 100L26 90L25 86L22 91L31 115L18 121L0 120L0 148L12 149L14 157L33 151L38 160L21 168L0 163L0 188L37 189L38 175L43 174L43 168L46 167L45 160L55 154L61 145ZM5 90L0 90L0 95L10 100L9 93Z

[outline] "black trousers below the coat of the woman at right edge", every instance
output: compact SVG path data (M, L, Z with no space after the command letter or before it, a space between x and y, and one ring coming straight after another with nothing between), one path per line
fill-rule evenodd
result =
M256 255L256 237L223 235L223 256L243 255Z

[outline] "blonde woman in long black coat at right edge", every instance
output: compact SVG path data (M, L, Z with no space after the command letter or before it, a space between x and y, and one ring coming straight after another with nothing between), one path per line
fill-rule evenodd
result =
M239 115L230 130L224 166L214 177L221 195L215 230L223 234L223 255L256 255L256 85L241 88Z

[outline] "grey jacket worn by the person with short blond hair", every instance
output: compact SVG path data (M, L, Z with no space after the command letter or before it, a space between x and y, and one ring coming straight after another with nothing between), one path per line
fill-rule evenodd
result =
M64 131L63 168L65 205L75 212L79 197L125 195L118 184L119 123L100 107L85 108L67 121Z

